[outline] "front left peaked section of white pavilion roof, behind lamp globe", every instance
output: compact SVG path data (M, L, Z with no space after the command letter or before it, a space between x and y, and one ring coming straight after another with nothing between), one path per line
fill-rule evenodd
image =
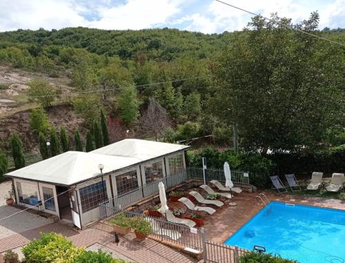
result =
M137 159L131 157L70 151L7 173L7 175L41 182L71 185L100 175L99 164L104 166L103 173L108 173L137 162Z

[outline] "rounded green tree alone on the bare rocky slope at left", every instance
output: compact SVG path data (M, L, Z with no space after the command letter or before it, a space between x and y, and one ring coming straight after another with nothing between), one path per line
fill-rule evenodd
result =
M28 95L30 101L36 101L41 104L43 108L48 108L52 105L52 101L55 99L56 90L44 79L32 79L28 83L30 87Z

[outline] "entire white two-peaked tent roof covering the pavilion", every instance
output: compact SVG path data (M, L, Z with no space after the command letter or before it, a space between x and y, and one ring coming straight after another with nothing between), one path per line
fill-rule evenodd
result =
M104 166L103 173L109 173L188 147L141 139L124 139L90 153L62 153L6 175L69 186L100 175L99 164Z

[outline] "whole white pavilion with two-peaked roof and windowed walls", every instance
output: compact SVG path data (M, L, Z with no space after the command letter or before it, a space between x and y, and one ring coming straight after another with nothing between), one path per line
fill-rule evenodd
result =
M12 177L17 204L71 220L81 228L99 220L100 202L131 194L144 199L141 186L156 188L155 182L184 171L188 148L124 139L90 153L62 153L6 175Z

